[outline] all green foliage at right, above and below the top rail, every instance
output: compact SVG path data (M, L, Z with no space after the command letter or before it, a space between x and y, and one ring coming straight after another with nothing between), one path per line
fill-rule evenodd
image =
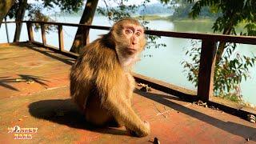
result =
M189 0L189 2L194 2ZM191 9L190 16L196 18L204 6L210 6L214 11L221 11L220 15L214 22L212 29L214 32L219 31L222 34L237 34L235 26L245 22L246 33L242 35L256 35L256 1L241 0L199 0L195 2ZM214 71L214 95L239 100L241 95L240 83L242 79L250 77L249 67L254 66L256 56L248 57L235 53L236 44L219 42ZM190 61L182 62L187 78L194 86L198 86L198 70L200 58L200 46L192 43L192 48L186 51ZM237 98L234 98L234 95Z

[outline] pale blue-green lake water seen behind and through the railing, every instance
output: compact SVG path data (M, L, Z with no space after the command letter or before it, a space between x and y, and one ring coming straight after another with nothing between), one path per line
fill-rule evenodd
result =
M79 17L65 17L55 18L56 22L70 22L78 23ZM112 26L113 23L108 22L106 18L96 17L94 18L93 25L98 26ZM153 30L169 30L178 32L190 32L190 33L202 33L213 34L211 30L212 22L167 22L162 20L152 21L149 27ZM10 40L14 37L14 24L8 24ZM74 35L77 28L72 26L63 26L64 30L64 46L65 50L69 50L72 45ZM100 34L106 34L107 30L90 30L90 42L98 38ZM34 33L34 39L38 42L42 42L41 31ZM22 41L27 41L26 25L22 28ZM58 32L50 32L46 34L47 44L58 47ZM0 43L6 42L5 26L2 25L0 29ZM142 52L141 61L134 66L134 71L138 74L143 74L151 78L157 78L164 82L170 82L176 86L186 87L190 90L197 90L186 79L186 74L182 72L184 69L181 66L181 62L186 60L185 55L186 48L190 46L190 39L184 38L167 38L162 37L158 39L159 43L165 43L166 47L160 47L159 49L150 48ZM253 45L238 45L236 52L240 54L246 54L248 56L256 55L256 46ZM153 55L153 57L144 57L147 54ZM256 104L256 68L250 68L251 78L246 81L242 81L241 89L242 95L246 102Z

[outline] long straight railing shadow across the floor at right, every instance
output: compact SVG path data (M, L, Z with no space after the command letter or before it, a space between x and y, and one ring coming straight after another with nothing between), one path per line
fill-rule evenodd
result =
M198 120L202 122L207 122L212 126L215 126L219 129L226 130L230 134L235 134L238 136L241 136L242 138L249 138L250 141L256 142L256 129L250 126L244 126L238 123L234 122L223 122L222 120L219 120L217 118L213 118L209 115L202 114L201 112L198 112L196 110L191 110L187 108L186 106L179 105L176 102L171 102L171 99L178 100L175 97L171 97L169 95L163 95L163 94L153 94L153 93L146 93L142 90L136 89L134 93L141 95L145 98L149 98L151 100L154 100L155 102L159 102L165 106L169 106L170 108L174 110L178 110L179 112L183 114L187 114L190 117L197 118ZM170 100L167 100L170 99ZM249 135L250 134L250 135Z

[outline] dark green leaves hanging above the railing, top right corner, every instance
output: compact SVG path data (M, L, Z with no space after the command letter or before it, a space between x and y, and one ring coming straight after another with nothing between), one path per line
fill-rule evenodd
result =
M188 2L194 2L194 0L188 0ZM255 32L255 22L256 22L256 1L255 0L226 0L226 1L216 1L216 0L200 0L195 2L190 16L193 18L198 17L201 12L202 7L210 6L211 9L215 11L221 11L222 16L214 22L213 30L219 32L230 31L230 34L236 34L234 30L235 26L238 26L241 22L246 22L247 34L251 34L251 31ZM246 34L244 34L246 35Z

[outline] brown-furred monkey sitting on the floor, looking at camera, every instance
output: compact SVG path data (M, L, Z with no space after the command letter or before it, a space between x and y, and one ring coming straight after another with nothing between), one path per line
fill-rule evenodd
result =
M95 126L125 126L137 137L150 134L149 122L132 109L134 63L146 46L144 27L134 18L116 22L108 34L82 48L70 70L70 96Z

